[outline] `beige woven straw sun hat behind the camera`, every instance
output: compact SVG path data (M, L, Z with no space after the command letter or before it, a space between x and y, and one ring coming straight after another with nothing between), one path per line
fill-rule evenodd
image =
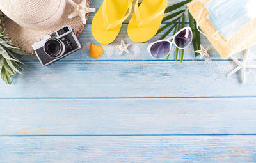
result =
M73 0L81 3L82 0ZM34 42L68 24L76 31L84 27L79 17L68 19L74 8L68 0L1 0L4 28L12 42L31 52Z

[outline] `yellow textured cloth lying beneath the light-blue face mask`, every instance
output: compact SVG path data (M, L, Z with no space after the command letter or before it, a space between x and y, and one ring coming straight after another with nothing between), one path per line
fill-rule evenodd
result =
M198 15L200 10L204 8L204 4L210 0L193 0L188 4L188 9L191 15L195 20L198 19ZM209 13L207 10L202 12L200 17L204 19ZM215 33L217 30L211 24L210 20L205 20L200 24L200 28L206 34ZM220 33L216 35L216 38L221 38ZM223 38L223 37L222 37ZM227 41L217 41L213 38L208 37L209 42L215 47L215 49L219 52L222 58L227 59L229 56L236 54L237 52L241 52L256 43L256 19L246 24L236 35L234 35L230 40Z

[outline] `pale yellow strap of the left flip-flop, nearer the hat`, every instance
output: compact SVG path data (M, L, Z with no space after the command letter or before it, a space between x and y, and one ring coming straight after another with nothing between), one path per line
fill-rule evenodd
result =
M132 11L132 1L133 0L128 0L129 2L129 11L128 13L125 15L125 17L123 17L122 19L116 20L115 22L109 23L108 21L108 15L107 15L107 6L106 6L106 1L104 0L103 4L102 4L102 13L103 13L103 21L104 24L106 26L106 31L108 31L109 29L118 26L119 24L122 24L122 22L124 22L125 19L127 19ZM111 10L111 9L110 9Z

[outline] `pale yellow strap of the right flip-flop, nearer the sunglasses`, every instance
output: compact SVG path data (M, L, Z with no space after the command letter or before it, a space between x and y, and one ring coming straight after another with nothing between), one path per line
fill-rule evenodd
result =
M153 15L150 15L149 17L146 17L145 19L141 19L140 16L140 12L139 12L139 8L138 8L138 1L136 0L136 4L135 4L135 8L134 8L134 12L135 12L135 16L136 16L136 20L139 24L139 27L141 27L142 24L144 24L145 22L150 22L150 20L155 19L156 17L159 17L160 15L162 15L165 11L165 8L163 10L161 10L160 12L154 13ZM164 0L164 4L166 4L167 6L168 1Z

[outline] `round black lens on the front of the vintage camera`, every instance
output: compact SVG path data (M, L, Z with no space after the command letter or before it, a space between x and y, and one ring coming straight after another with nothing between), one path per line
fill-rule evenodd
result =
M58 40L51 39L45 43L45 52L51 56L56 57L61 53L61 43Z

